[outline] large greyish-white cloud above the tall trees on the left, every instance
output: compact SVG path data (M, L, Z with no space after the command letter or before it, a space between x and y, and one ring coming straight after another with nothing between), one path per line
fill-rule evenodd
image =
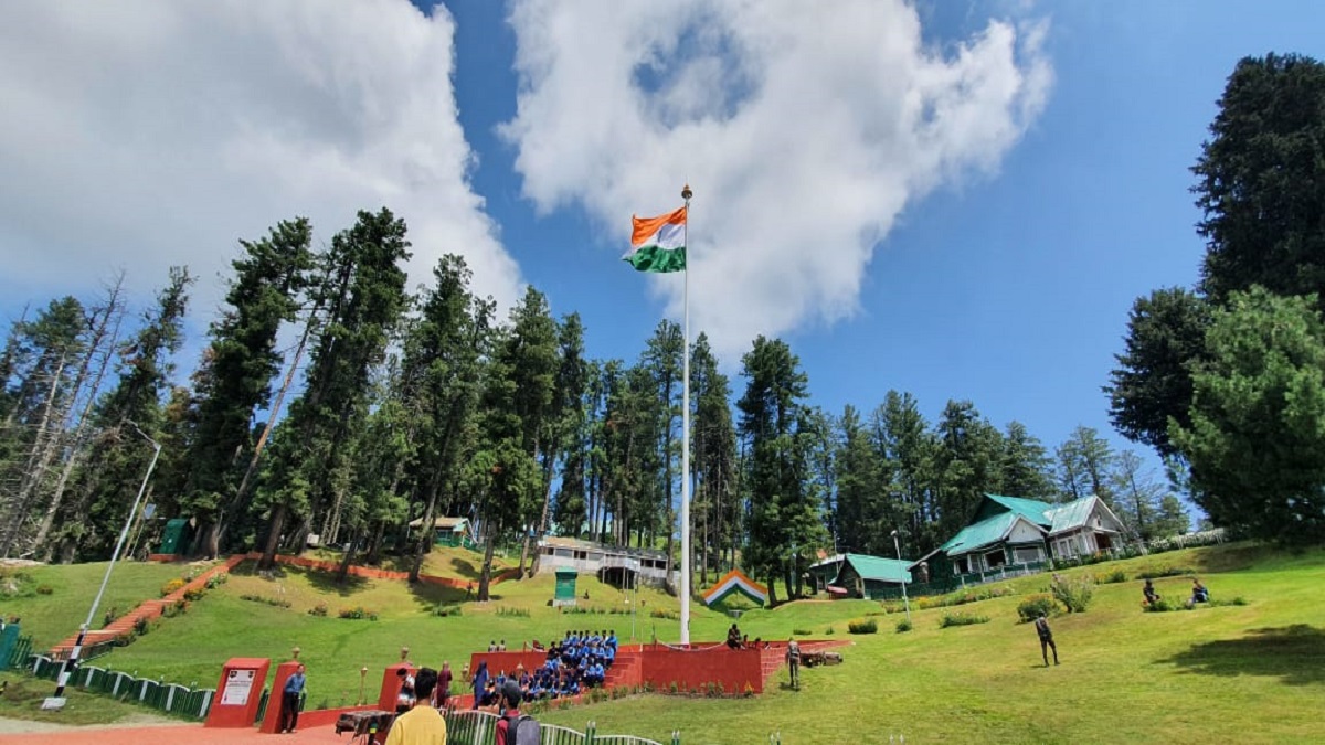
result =
M238 239L302 215L330 241L386 205L411 285L458 252L511 302L518 268L466 182L453 37L445 8L404 0L5 3L0 286L125 266L146 290L188 264L208 318Z

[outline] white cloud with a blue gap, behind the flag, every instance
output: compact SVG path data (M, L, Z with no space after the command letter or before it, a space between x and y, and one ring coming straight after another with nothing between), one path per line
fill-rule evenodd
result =
M1043 24L934 49L900 0L514 0L510 23L526 196L624 245L688 179L692 313L729 354L855 313L902 209L995 172L1052 82Z

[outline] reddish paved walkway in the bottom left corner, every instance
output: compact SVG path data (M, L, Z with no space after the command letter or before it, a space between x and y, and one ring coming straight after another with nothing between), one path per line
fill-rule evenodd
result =
M24 722L34 724L34 722ZM58 726L58 725L57 725ZM0 729L0 733L4 730ZM0 742L5 745L150 745L187 744L187 745L229 745L232 742L262 742L265 745L298 745L302 742L341 742L348 745L350 733L337 737L335 726L314 726L299 729L294 734L260 734L253 729L207 729L201 724L179 724L163 726L62 726L58 732L40 732L26 734L0 734Z

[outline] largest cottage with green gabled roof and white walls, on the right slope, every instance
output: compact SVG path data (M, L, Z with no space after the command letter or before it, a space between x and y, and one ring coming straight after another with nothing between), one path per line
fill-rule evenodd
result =
M958 574L1109 550L1124 526L1104 500L1067 504L984 494L966 528L938 547Z

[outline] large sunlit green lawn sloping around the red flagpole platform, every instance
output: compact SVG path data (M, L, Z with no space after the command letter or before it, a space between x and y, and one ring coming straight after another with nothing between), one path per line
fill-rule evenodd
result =
M1198 573L1216 601L1240 595L1248 604L1142 612L1136 575L1165 567ZM580 729L595 720L599 732L664 741L681 729L688 745L765 741L774 732L784 742L877 742L889 734L910 742L1325 741L1318 716L1325 700L1325 551L1289 555L1232 545L1064 574L1114 570L1129 581L1098 585L1088 612L1052 619L1059 667L1040 664L1034 628L1018 623L1022 597L1049 582L1048 575L1036 575L1007 582L1011 597L959 608L918 610L913 603L914 630L908 634L893 631L901 614L885 614L884 606L865 601L747 611L739 623L751 639L784 639L794 630L827 638L831 628L832 638L853 642L840 650L844 664L803 671L799 692L774 683L766 695L749 700L641 696L542 718ZM144 582L152 589L148 597L168 577ZM1155 581L1171 599L1186 598L1190 585L1190 577ZM628 607L623 593L580 578L579 591L586 590L591 599L584 604ZM242 594L281 598L292 607L242 601ZM310 705L334 707L358 697L360 665L375 671L368 680L372 697L382 667L399 659L401 646L411 647L419 664L449 659L458 667L492 639L518 648L523 640L546 642L586 627L629 636L631 616L558 614L546 604L551 594L547 577L507 582L494 586L490 603L462 603L458 618L436 618L431 608L462 601L464 594L362 579L337 586L319 573L286 567L260 577L241 567L188 614L163 620L101 663L213 685L229 656L288 659L298 644L309 665ZM677 622L652 618L651 611L674 614L677 601L656 591L641 591L640 599L636 636L649 639L656 632L661 640L674 640ZM319 602L327 603L327 618L306 612ZM335 618L338 607L351 604L374 608L379 620ZM527 616L505 615L504 608ZM954 610L991 620L939 628L943 614ZM848 636L847 622L867 615L878 622L878 634ZM730 622L694 607L692 638L719 640Z

